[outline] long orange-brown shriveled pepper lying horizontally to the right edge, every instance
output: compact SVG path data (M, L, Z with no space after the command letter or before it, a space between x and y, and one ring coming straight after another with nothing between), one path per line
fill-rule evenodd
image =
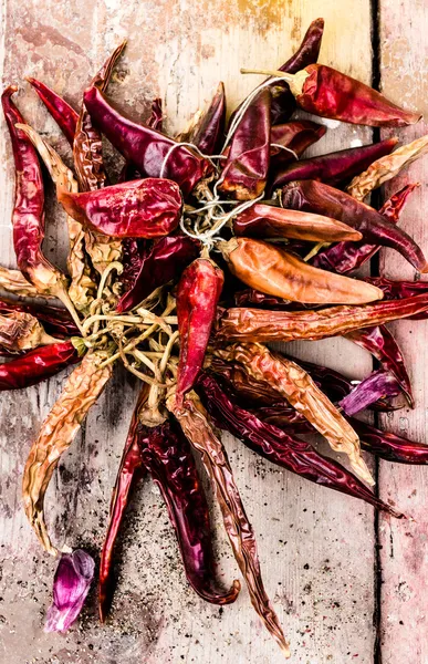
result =
M326 307L320 311L227 309L218 323L217 342L316 340L346 334L428 310L428 293L364 307Z

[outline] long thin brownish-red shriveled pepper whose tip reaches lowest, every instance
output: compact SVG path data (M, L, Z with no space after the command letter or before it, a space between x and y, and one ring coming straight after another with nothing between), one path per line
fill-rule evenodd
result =
M184 407L176 407L174 396L167 401L167 407L178 419L190 445L201 455L216 491L234 558L247 582L251 603L284 655L289 657L289 643L263 587L254 532L246 515L225 447L215 435L206 411L194 392L186 396Z

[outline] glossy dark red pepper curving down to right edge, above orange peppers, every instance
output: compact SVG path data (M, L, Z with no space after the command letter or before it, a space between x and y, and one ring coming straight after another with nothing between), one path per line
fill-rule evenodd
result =
M316 180L297 180L282 190L284 207L340 219L356 228L365 240L399 251L417 270L428 270L426 258L418 245L403 229L397 228L368 205L348 194Z

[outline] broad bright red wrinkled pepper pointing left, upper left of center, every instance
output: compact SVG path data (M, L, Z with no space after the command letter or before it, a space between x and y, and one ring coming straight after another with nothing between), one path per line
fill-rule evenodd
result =
M158 238L179 222L181 195L176 183L147 178L73 194L60 189L65 211L94 230L116 238Z

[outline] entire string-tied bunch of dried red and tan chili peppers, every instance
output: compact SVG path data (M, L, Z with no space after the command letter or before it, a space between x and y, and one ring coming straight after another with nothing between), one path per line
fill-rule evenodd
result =
M159 100L144 124L106 96L121 44L84 92L79 111L30 79L73 151L74 169L2 94L15 163L13 242L19 270L0 269L1 390L34 385L76 364L42 424L23 475L23 506L44 549L58 556L44 496L90 407L123 364L142 382L111 502L100 563L100 615L113 595L114 546L131 491L147 473L159 486L189 583L208 602L236 600L213 572L210 520L194 454L202 460L250 600L285 656L289 642L264 591L251 523L218 429L288 470L379 510L383 502L362 449L383 459L426 464L428 447L355 418L365 409L414 405L400 349L385 326L428 317L422 281L357 279L380 247L418 272L428 263L398 225L416 185L377 210L366 198L428 151L428 137L396 147L389 138L314 158L304 151L325 133L315 116L400 127L419 120L378 92L317 63L324 22L299 51L226 120L220 84L208 108L179 136L163 128ZM112 184L105 136L125 158ZM46 168L67 221L67 274L43 255ZM351 276L349 276L351 274ZM31 298L23 300L22 298ZM19 299L18 299L19 298ZM295 362L271 341L343 335L378 369L355 384L326 367ZM319 432L352 471L301 436ZM65 630L87 594L94 564L62 549L49 630Z

